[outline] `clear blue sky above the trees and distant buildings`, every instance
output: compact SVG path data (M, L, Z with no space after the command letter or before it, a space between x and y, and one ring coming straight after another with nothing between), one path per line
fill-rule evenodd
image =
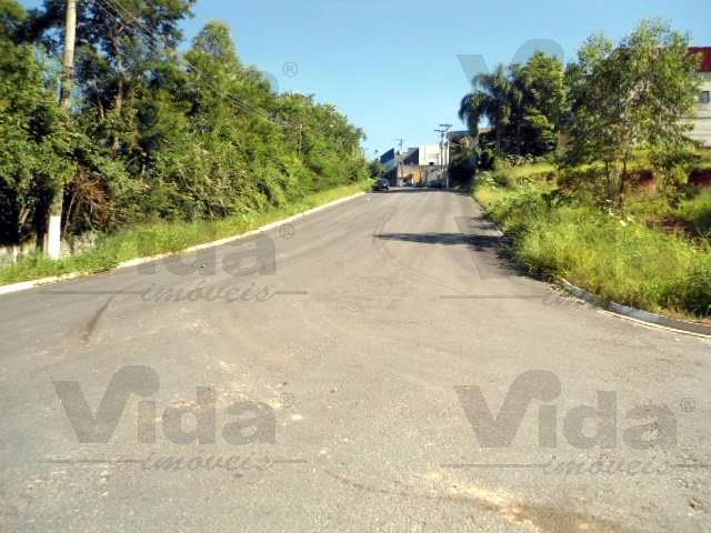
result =
M400 138L433 142L440 123L462 128L457 109L469 82L460 54L483 56L492 68L545 39L570 59L591 33L619 39L649 17L711 46L710 0L198 0L194 11L188 37L226 20L244 62L282 91L336 103L365 131L369 155ZM298 66L296 76L284 74L286 63Z

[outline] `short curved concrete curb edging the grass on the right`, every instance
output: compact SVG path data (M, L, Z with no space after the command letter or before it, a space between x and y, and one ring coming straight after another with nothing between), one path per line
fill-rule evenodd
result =
M654 328L661 328L677 333L685 333L690 335L701 336L703 339L711 339L711 325L702 324L699 322L689 322L685 320L670 319L669 316L662 316L661 314L650 313L637 308L630 308L620 303L608 301L592 292L585 291L580 286L573 285L565 279L560 279L561 286L571 293L573 296L583 300L588 303L597 305L604 311L608 311L614 316L628 319L633 322L651 325Z

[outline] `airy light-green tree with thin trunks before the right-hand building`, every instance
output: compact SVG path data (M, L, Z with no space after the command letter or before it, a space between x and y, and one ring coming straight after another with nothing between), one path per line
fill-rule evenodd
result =
M650 155L667 187L679 184L679 164L690 145L683 119L693 111L700 83L698 58L688 50L688 36L661 21L642 21L619 47L602 36L589 39L569 69L565 163L601 161L607 200L618 207L639 153Z

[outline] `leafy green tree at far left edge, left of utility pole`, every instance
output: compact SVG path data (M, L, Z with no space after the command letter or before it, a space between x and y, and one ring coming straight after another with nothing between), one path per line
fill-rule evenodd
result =
M0 0L0 240L12 244L41 232L56 183L73 170L56 87L22 43L24 21L18 2Z

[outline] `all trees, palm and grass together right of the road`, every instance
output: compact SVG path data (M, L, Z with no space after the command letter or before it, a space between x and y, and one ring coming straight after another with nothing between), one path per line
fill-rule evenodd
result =
M482 118L494 128L474 195L531 271L628 305L711 315L711 191L688 184L708 160L685 137L699 90L688 50L688 36L644 21L617 46L589 39L562 78L537 54L474 80L462 117L474 132ZM544 90L527 89L535 64L549 66L538 69Z

